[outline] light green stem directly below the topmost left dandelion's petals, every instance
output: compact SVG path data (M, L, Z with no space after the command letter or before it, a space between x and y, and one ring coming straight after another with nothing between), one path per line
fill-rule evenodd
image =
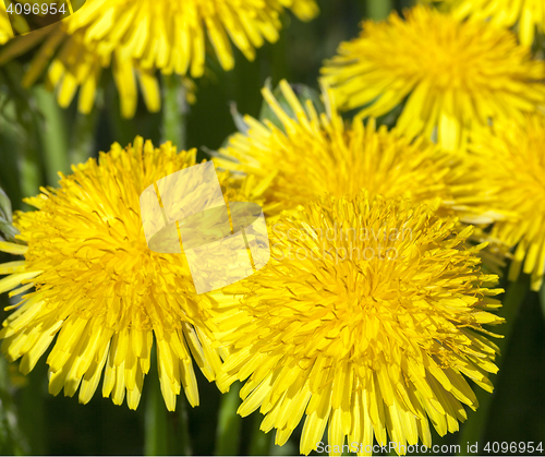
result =
M171 141L179 151L185 148L185 88L177 74L162 75L162 140Z

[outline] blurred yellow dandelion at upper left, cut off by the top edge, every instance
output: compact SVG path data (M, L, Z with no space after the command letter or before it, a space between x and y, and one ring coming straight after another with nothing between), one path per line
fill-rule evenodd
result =
M31 85L59 49L48 79L59 89L61 106L81 87L78 108L88 112L101 70L111 65L122 115L132 117L136 109L136 79L147 108L157 111L157 69L199 77L208 44L225 70L234 65L231 43L253 60L265 40L278 39L284 9L302 20L317 14L314 0L87 0L50 34L24 84Z

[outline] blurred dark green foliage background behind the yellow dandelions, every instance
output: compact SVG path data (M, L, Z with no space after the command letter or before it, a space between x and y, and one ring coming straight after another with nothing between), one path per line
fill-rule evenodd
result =
M230 112L234 101L241 113L258 116L261 88L281 79L316 87L324 59L331 57L341 40L354 37L364 16L382 19L390 10L410 3L390 0L320 0L320 15L301 23L292 15L283 19L280 40L257 51L254 62L237 51L237 65L223 72L214 60L205 77L196 81L197 103L187 108L186 132L177 125L179 87L164 79L164 109L146 111L142 97L132 120L119 116L119 98L111 74L104 73L102 89L90 116L77 113L75 104L63 110L53 95L37 85L21 87L25 64L32 53L0 67L0 185L13 209L28 209L21 199L38 193L40 185L56 185L58 171L69 172L70 164L108 151L112 142L126 145L136 134L158 145L165 140L182 141L186 147L218 148L235 131ZM425 51L425 50L424 50ZM387 56L385 56L387 58ZM204 157L203 151L199 154ZM3 215L9 217L9 215ZM10 256L2 254L0 261ZM545 445L545 293L526 292L526 278L511 287L502 315L510 332L502 341L501 369L493 376L496 386L491 396L479 387L482 407L469 412L461 432L444 438L434 435L434 444L480 442L480 454L487 442L544 442ZM7 294L0 304L8 304ZM7 315L1 311L1 318ZM274 432L258 431L262 417L254 413L241 419L234 411L238 388L220 396L215 385L197 373L201 406L191 409L179 399L178 411L167 412L158 389L157 374L146 376L144 397L137 411L126 405L117 407L97 392L93 400L78 405L76 398L52 397L47 392L45 357L29 376L19 374L16 363L0 358L0 454L48 455L211 455L271 454L299 452L298 429L283 447L274 445ZM100 389L99 389L100 390ZM324 437L326 440L326 437Z

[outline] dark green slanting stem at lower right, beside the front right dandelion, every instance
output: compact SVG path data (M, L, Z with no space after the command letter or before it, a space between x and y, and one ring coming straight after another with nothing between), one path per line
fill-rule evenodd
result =
M498 313L506 322L501 325L505 337L496 341L499 347L500 357L496 360L496 365L501 373L501 365L504 363L505 351L508 347L514 323L517 321L517 314L521 303L530 289L530 281L528 275L521 275L517 282L512 282L508 286L507 292L502 300L502 306ZM494 380L494 384L497 384L497 376ZM459 443L464 449L465 444L475 444L475 442L481 442L483 440L486 426L488 424L491 406L494 401L494 394L488 394L483 389L476 390L476 397L479 400L479 408L473 412L468 422L463 425L460 432Z

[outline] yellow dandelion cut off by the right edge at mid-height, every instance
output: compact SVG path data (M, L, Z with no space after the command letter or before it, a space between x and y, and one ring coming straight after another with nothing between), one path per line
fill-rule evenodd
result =
M508 246L517 246L509 279L516 280L522 269L531 274L533 290L540 290L545 269L544 144L543 115L480 130L470 143L483 180L497 193L498 207L513 215L497 221L491 232Z

